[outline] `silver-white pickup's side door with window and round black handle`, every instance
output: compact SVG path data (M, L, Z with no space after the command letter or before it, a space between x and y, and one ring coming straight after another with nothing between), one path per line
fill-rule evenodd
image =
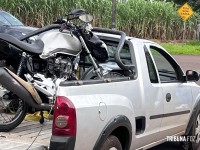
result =
M183 82L183 71L168 53L158 45L147 45L164 95L164 114L150 119L162 118L161 136L166 138L185 130L192 106L191 88Z

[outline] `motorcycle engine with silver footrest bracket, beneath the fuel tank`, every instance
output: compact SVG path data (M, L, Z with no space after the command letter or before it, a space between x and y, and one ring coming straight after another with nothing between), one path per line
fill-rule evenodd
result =
M33 74L27 73L24 76L38 91L52 100L59 83L74 77L75 60L76 57L63 55L50 57L46 60L40 59L40 61L37 58L31 58L27 65Z

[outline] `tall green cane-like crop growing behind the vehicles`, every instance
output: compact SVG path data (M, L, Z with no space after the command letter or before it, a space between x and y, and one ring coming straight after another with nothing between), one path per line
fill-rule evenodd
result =
M94 26L111 26L111 0L0 0L0 8L11 12L25 24L44 26L51 24L73 8L84 8L94 15ZM148 39L183 38L184 23L177 14L178 6L172 2L129 0L117 4L117 28L130 36ZM195 38L196 19L193 15L186 23L186 39Z

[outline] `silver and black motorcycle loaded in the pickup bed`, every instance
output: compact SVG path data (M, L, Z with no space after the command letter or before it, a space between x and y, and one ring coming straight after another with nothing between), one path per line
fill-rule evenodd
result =
M125 33L93 29L90 24L93 18L83 9L71 11L66 18L58 20L58 24L33 31L20 40L0 34L0 60L5 63L5 67L0 68L0 132L17 127L25 118L28 107L35 111L52 110L60 82L94 78L91 73L95 73L95 78L109 74L112 66L104 69L97 63L104 63L109 58L106 44L93 31L123 37L117 47L116 58L119 58ZM72 22L75 19L83 23L76 25ZM38 36L34 42L24 42L33 36ZM91 64L87 71L86 58ZM118 61L116 65L120 64ZM43 121L42 116L40 122Z

